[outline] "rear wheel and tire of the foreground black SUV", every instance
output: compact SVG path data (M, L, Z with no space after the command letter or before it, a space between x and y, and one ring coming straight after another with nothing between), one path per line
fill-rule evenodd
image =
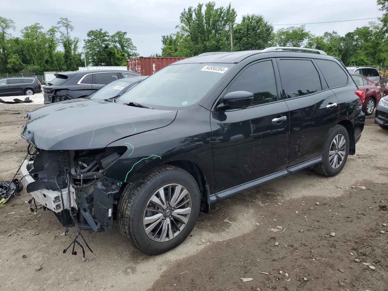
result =
M343 144L345 142L345 145ZM349 134L345 127L336 125L329 133L323 148L322 161L314 166L320 175L333 177L345 166L349 154Z

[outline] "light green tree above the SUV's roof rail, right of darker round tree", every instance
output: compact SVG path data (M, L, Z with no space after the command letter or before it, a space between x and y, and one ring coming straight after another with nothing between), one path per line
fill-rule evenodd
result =
M306 31L304 25L289 26L276 31L275 43L280 47L302 47L310 37L310 31Z

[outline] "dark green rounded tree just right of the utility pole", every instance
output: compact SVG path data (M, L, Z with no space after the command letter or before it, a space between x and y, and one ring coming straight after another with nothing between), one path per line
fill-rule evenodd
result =
M233 29L234 50L262 50L270 46L274 27L256 14L242 16Z

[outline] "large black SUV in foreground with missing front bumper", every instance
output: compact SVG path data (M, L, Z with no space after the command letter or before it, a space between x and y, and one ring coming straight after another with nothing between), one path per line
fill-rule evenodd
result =
M117 213L129 242L160 254L218 199L304 168L340 173L364 128L355 91L343 64L318 50L202 54L114 102L30 112L22 137L37 152L23 180L62 225L109 229Z

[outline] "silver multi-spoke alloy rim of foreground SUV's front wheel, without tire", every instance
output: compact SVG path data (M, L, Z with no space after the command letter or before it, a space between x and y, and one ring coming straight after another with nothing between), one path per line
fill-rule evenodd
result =
M169 241L182 232L190 213L191 197L185 187L165 185L152 195L144 210L145 233L153 241Z

